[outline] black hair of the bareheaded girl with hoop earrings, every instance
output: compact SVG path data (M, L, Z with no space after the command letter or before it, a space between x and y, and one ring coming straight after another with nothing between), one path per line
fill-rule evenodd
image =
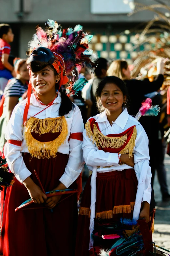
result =
M101 96L103 88L105 87L105 85L107 83L116 84L119 87L119 89L123 93L123 96L126 96L126 104L123 105L123 106L127 107L128 106L128 90L127 90L127 87L126 87L125 83L119 77L110 76L110 77L103 78L103 80L97 86L96 101L97 101L97 109L98 109L98 111L99 112L103 112L104 111L104 108L103 108L103 106L102 106L102 104L100 102L100 96Z

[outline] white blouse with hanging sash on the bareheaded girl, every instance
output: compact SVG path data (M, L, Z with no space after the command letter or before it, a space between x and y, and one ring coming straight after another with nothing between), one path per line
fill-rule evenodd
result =
M135 207L133 218L139 218L141 203L147 201L150 204L151 198L151 170L149 166L149 148L148 137L141 126L141 124L132 116L128 114L125 108L113 125L110 126L107 120L106 111L94 116L95 122L98 123L100 131L106 136L108 134L119 134L126 129L136 126L137 136L134 146L134 161L135 173L138 180L138 188L136 193ZM94 229L95 218L95 202L96 202L96 176L97 172L121 171L130 169L132 167L123 164L119 165L119 157L117 153L108 153L99 150L96 144L92 143L89 137L86 136L86 129L83 131L83 157L88 165L89 170L92 171L91 178L91 217L90 217L90 233ZM111 166L112 165L112 166ZM100 166L100 167L98 167ZM107 167L108 166L108 167ZM110 167L111 166L111 167ZM105 167L105 168L104 168ZM90 239L90 248L93 245L93 240Z

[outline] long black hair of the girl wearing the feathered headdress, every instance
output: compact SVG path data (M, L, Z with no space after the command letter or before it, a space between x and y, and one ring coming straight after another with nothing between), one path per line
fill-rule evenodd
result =
M54 71L54 76L57 76L58 73L55 70L55 68L50 65L50 68ZM55 89L58 90L59 89L59 85L58 83L56 83L55 85ZM71 110L74 110L75 105L73 104L73 102L69 99L69 97L65 94L65 91L62 91L62 89L60 88L59 90L60 94L61 94L61 106L59 108L59 115L63 116L63 115L67 115Z

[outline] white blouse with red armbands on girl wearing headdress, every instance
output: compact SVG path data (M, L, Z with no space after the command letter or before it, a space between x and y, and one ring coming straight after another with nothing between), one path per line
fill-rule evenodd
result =
M58 93L57 98L54 100L49 108L45 109L47 106L42 105L36 100L34 94L30 98L30 107L28 111L29 119L31 116L34 116L36 113L42 111L36 115L36 118L55 118L59 117L59 108L61 105L61 95ZM13 145L6 143L4 148L4 155L6 157L7 163L10 170L15 173L15 177L22 183L26 178L31 175L31 172L26 168L23 161L22 152L28 152L28 147L23 136L23 113L25 108L26 100L19 103L13 110L11 118L7 124L5 131L6 140L19 140L22 141L21 146ZM78 178L79 174L82 171L84 166L83 154L82 154L82 141L76 139L69 139L70 133L83 132L84 124L79 108L75 105L75 109L71 110L65 119L68 125L68 134L67 138L59 148L58 152L62 154L69 154L69 159L65 167L64 174L59 179L67 188Z

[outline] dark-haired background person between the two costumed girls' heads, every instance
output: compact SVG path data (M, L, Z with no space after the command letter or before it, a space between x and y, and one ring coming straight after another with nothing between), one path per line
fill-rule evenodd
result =
M89 83L82 90L82 97L85 100L88 111L87 118L90 116L94 116L98 113L96 107L96 89L98 84L102 81L104 77L106 77L107 69L108 69L108 61L104 58L99 58L96 60L95 64L96 69L94 71L94 77L89 80Z

